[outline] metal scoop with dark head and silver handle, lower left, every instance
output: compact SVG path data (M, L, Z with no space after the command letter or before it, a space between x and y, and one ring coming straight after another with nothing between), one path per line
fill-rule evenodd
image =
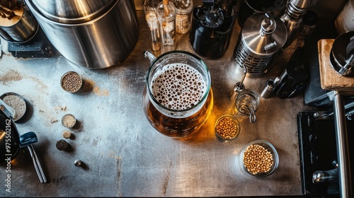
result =
M42 166L40 165L40 161L38 160L37 154L35 153L35 149L33 148L32 144L38 142L37 135L35 132L27 132L20 136L20 147L23 148L27 146L28 150L30 151L30 156L33 161L33 165L35 165L35 171L40 178L41 183L47 182L45 178L45 174L43 173Z

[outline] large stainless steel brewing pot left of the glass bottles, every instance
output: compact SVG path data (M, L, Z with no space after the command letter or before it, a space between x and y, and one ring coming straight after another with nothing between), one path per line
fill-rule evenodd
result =
M78 11L80 7L73 5L78 5L80 2L88 5L89 1L76 0L76 4L74 2L62 4L62 8L69 10L67 13L74 11L76 13L58 16L59 22L53 21L55 19L53 16L60 13L59 11L50 11L49 8L43 11L45 6L40 10L35 6L35 1L38 0L25 0L52 45L76 65L89 69L113 66L125 59L137 43L139 28L134 1L105 1L104 9L100 9L100 6L96 8L91 6L91 11L84 12L85 9Z

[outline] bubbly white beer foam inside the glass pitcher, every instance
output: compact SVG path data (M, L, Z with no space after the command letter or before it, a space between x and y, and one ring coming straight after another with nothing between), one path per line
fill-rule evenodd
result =
M150 83L152 95L171 110L195 106L207 91L202 74L187 64L169 64L157 71Z

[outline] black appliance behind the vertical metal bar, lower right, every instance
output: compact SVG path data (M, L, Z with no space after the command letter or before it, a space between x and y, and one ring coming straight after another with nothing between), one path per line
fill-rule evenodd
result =
M354 142L354 119L348 116L346 123L348 142ZM322 170L331 173L338 171L333 117L324 117L323 112L299 112L297 126L303 194L316 197L338 197L338 180L335 177L327 182L312 182L312 175L315 171ZM349 148L350 164L353 165L354 145L349 144ZM353 180L353 174L351 174L351 180Z

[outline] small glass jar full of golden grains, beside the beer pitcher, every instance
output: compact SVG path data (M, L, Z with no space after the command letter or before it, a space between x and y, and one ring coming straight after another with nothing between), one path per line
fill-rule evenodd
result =
M232 115L222 115L215 122L215 135L221 141L230 141L239 136L240 124Z

